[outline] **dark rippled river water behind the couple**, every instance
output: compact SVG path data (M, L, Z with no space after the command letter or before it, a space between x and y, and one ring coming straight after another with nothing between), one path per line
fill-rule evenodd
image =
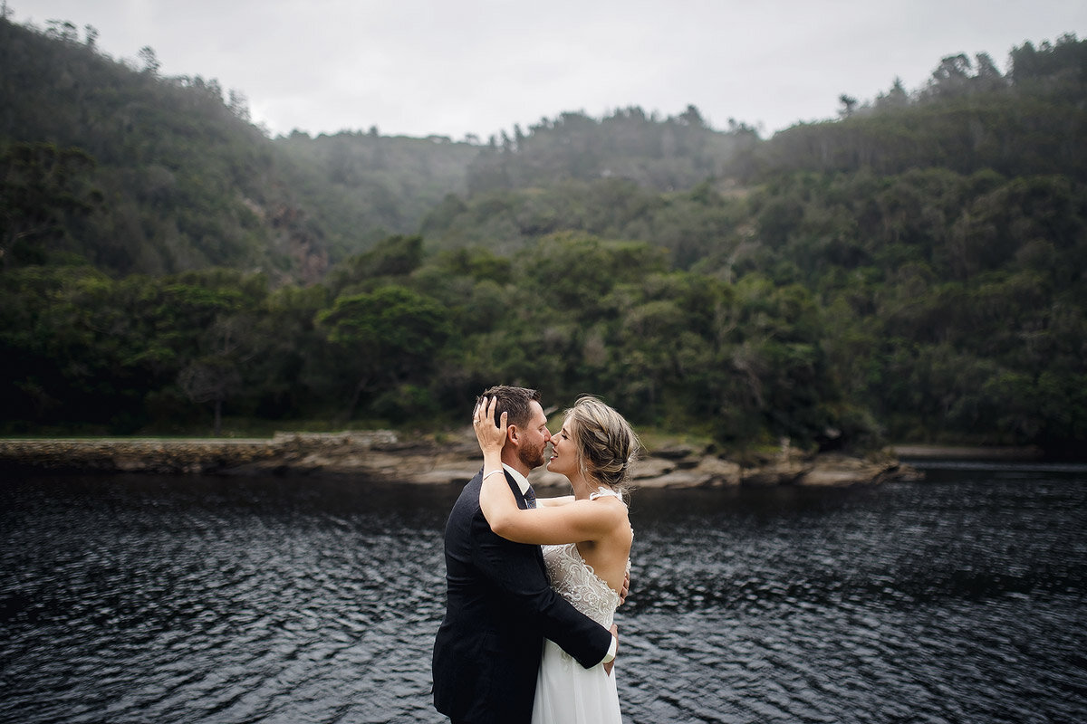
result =
M624 720L1087 722L1087 468L635 492ZM441 722L450 488L0 483L0 721Z

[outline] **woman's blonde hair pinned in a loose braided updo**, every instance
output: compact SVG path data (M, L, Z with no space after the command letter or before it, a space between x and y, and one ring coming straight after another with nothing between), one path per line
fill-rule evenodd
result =
M583 395L566 410L564 425L577 443L577 467L582 474L627 498L630 466L641 448L630 424L598 398Z

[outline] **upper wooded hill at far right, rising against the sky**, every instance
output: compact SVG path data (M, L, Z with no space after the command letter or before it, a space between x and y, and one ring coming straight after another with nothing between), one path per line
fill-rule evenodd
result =
M912 98L897 84L840 123L800 125L760 149L761 178L810 170L894 175L939 167L1008 177L1061 174L1087 179L1084 68L1074 36L1030 43L997 72L987 55L944 59Z

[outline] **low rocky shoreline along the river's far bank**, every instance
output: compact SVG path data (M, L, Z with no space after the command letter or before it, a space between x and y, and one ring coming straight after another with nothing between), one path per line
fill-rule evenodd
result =
M465 436L451 442L401 440L392 431L276 433L250 440L0 440L0 470L141 472L160 474L338 474L416 484L463 484L479 469L479 448ZM915 479L891 455L860 459L805 456L784 447L753 465L677 445L648 450L634 467L638 487L729 485L840 486ZM538 469L541 487L565 478Z

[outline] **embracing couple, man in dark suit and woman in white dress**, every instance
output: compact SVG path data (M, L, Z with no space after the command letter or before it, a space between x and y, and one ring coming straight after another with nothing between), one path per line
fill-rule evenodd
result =
M453 724L622 721L613 617L634 533L623 495L638 439L594 397L551 435L539 393L487 390L473 424L483 469L446 524L446 618L434 644L434 704ZM536 498L529 471L573 495Z

